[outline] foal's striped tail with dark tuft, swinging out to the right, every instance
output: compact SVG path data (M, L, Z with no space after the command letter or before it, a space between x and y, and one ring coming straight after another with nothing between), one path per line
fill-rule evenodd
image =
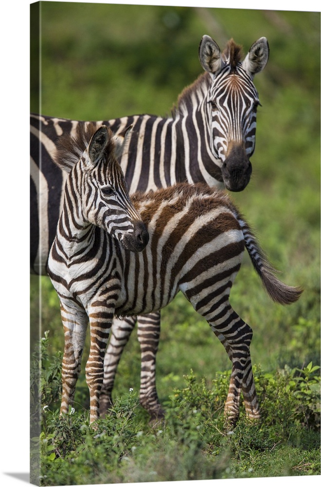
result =
M268 262L267 257L261 248L250 226L243 220L238 219L244 235L244 243L250 255L250 260L257 274L259 275L269 297L279 304L291 304L297 301L303 293L303 288L288 286L277 277L277 271Z

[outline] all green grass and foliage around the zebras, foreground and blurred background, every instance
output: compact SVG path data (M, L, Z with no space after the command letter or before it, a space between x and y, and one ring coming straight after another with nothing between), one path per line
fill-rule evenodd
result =
M234 37L245 53L266 36L270 58L255 77L263 106L253 173L249 186L232 198L281 279L304 287L289 307L271 303L245 256L232 288L232 306L253 329L260 425L250 427L241 417L233 435L223 434L220 413L230 362L209 326L178 295L162 311L157 356L158 392L167 412L162 432L148 426L138 406L135 330L119 366L115 412L94 434L83 373L76 412L57 415L59 303L42 277L39 309L39 280L32 277L32 343L49 330L43 399L50 408L43 414L41 441L34 442L47 475L43 485L320 474L320 423L311 412L318 398L314 409L307 406L320 373L314 371L305 391L297 378L297 369L320 365L320 13L44 2L42 28L41 109L34 78L31 110L86 120L170 112L178 94L202 72L197 49L203 34L221 47ZM84 361L86 353L88 341ZM192 407L192 399L204 409ZM310 409L300 410L300 401Z

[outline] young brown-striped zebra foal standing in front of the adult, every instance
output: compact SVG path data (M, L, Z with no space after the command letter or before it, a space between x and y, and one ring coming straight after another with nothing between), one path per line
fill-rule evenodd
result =
M104 130L107 129L98 129L98 133ZM79 132L82 132L81 128L78 142L84 144L86 139L89 142L88 132ZM102 136L93 135L95 152L102 151L97 147L101 139ZM62 141L58 164L62 162L66 167L67 159L71 165L74 163L70 152L72 144L68 137ZM234 425L237 421L241 391L247 415L251 419L259 418L250 359L252 330L229 302L244 249L247 249L272 300L289 304L299 298L301 289L287 286L275 277L274 269L249 225L227 194L205 184L178 183L155 192L135 193L133 206L147 228L149 242L146 244L145 237L140 245L126 245L124 233L127 234L128 226L133 232L133 225L128 223L133 217L133 209L128 204L124 184L116 189L112 181L108 182L110 194L113 194L113 210L104 209L103 220L95 218L96 214L101 214L99 188L92 186L89 194L87 190L82 194L86 180L78 168L83 160L90 158L92 144L91 139L89 149L77 150L78 153L85 150L84 155L71 169L65 190L65 201L71 199L73 205L63 206L48 262L48 273L60 298L65 330L61 412L66 412L72 403L87 319L91 346L86 378L92 423L99 417L104 352L113 317L155 313L181 291L195 310L207 319L232 361L225 404L230 423ZM108 158L106 154L104 158ZM118 166L116 174L123 182L120 171ZM127 202L126 206L121 205L123 200ZM90 220L85 217L89 213L93 215ZM117 218L122 224L117 224ZM67 237L62 232L63 225ZM113 225L117 225L117 232ZM139 228L139 240L142 241L142 233L146 230ZM136 253L130 250L136 250ZM141 252L137 253L138 250Z

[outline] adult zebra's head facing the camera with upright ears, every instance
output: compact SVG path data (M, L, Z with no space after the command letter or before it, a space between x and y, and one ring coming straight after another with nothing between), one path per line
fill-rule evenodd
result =
M224 185L231 191L242 191L250 181L260 105L253 77L264 69L268 55L266 37L252 44L243 62L241 46L233 39L223 54L209 36L203 36L199 45L200 63L211 76L205 99L211 151Z

